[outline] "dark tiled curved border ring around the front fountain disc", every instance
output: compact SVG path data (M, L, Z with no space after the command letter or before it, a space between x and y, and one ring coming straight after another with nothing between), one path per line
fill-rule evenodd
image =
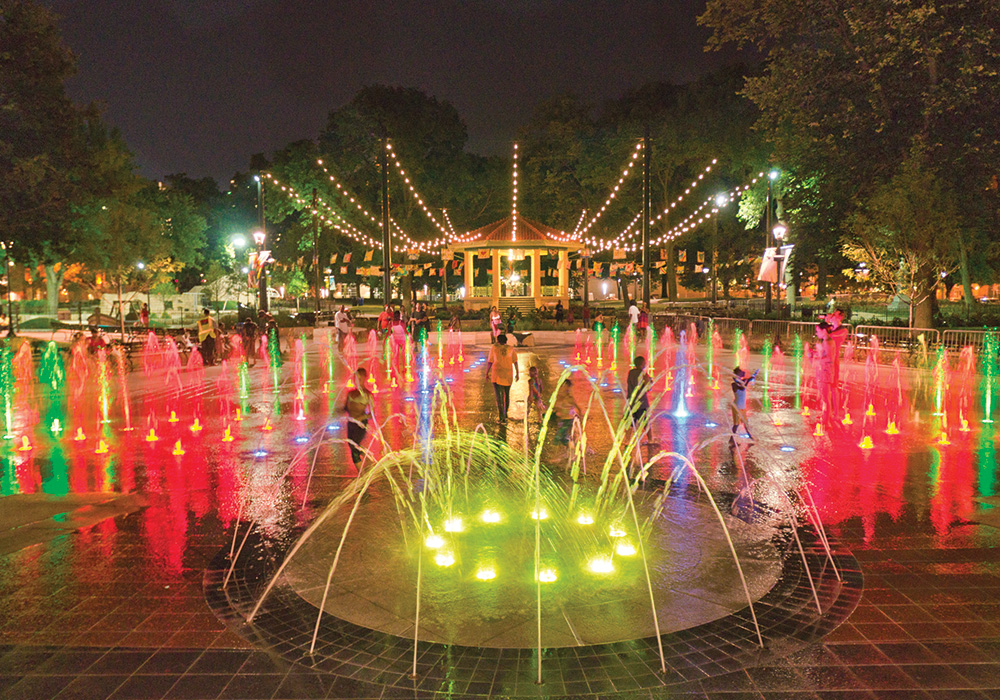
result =
M228 586L229 547L205 571L209 606L235 632L287 661L354 683L405 689L418 697L439 694L468 696L553 697L613 696L638 689L682 686L785 656L832 632L854 611L863 576L857 559L831 542L842 578L829 565L818 533L799 531L823 613L817 613L812 588L797 549L785 551L778 583L754 605L764 647L758 640L750 609L660 637L667 673L660 670L656 637L585 647L542 650L541 686L535 683L537 652L531 649L475 648L421 642L417 678L411 679L413 640L376 632L324 615L315 653L309 653L316 608L287 585L271 593L253 622L246 615L256 595L280 561L282 549L252 534ZM571 680L568 680L571 679Z

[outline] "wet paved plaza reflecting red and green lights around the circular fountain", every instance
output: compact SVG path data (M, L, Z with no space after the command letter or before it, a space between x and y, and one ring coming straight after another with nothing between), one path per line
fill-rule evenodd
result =
M452 697L1000 697L1000 515L995 509L1000 499L993 424L982 422L988 402L978 381L958 369L937 382L930 372L897 376L884 366L873 377L863 361L845 362L842 376L854 422L828 425L823 436L814 437L810 372L803 368L796 381L794 361L788 358L784 367L769 368L772 391L752 392L756 442L741 438L731 451L726 445L728 371L720 375L721 388L713 389L705 378L703 349L690 360L679 359L675 351L654 366L654 397L660 403L653 409L652 444L644 448L645 457L666 449L694 450L706 484L713 492L730 494L733 505L741 494L777 504L778 484L782 491L797 489L804 499L811 497L828 534L860 563L864 577L860 603L845 622L832 631L832 625L819 630L826 636L805 648L789 644L787 654L774 648L756 657L749 652L714 656L712 650L741 635L721 624L699 635L707 644L671 640L672 668L683 671L670 683L648 677L648 666L658 668L648 648L636 647L629 658L622 650L602 655L585 647L552 664L560 676L547 688L525 682L534 668L531 650L491 657L488 664L482 655L474 661L452 659L455 668L473 665L454 678L430 683L425 677L406 688L399 664L393 667L398 682L366 675L372 664L362 655L372 650L358 644L374 642L365 633L359 634L362 641L347 643L344 630L335 629L331 641L351 654L340 659L346 666L334 670L328 664L290 661L294 652L283 648L273 627L253 636L216 614L219 607L210 605L211 572L219 570L234 527L253 523L287 546L327 501L354 482L341 435L346 371L335 358L332 391L324 391L328 353L320 343L307 349L304 363L295 360L294 351L277 370L258 362L245 382L235 367L174 373L169 362L160 362L125 378L123 391L112 371L67 362L67 379L58 391L43 391L44 385L28 391L26 384L15 384L6 426L12 439L5 441L0 475L5 529L0 539L0 697L430 697L436 691ZM430 428L426 409L434 382L442 377L460 424L472 429L483 423L490 434L520 448L524 424L516 418L524 411L519 402L523 381L512 392L515 420L503 429L496 424L492 388L484 379L487 350L467 345L458 362L456 348L444 346L439 368L434 349L428 358L413 361L412 381L405 366L400 368L396 388L382 365L371 365L361 352L362 363L376 370L374 423L382 426L384 444L411 447ZM576 351L572 336L566 344L534 349L548 389L563 363L575 361ZM587 349L582 352L584 362ZM619 352L616 359L605 350L596 392L574 381L579 403L587 405L596 394L593 400L602 399L608 411L605 421L594 403L589 414L591 475L599 472L610 449L608 423L617 425L623 413L628 352L624 347ZM714 359L725 368L733 364L728 352ZM753 356L749 364L762 361ZM686 362L691 371L678 371ZM674 368L669 391L667 365ZM585 366L599 374L596 354ZM84 369L86 380L81 379ZM864 415L868 403L874 416ZM812 415L802 415L805 407ZM171 412L176 422L170 422ZM890 418L898 435L884 432ZM961 430L963 419L968 432ZM59 421L57 434L54 420ZM192 430L197 427L201 430ZM156 441L147 441L150 428ZM225 440L226 428L232 441ZM83 439L76 440L81 431ZM527 434L532 447L537 433L532 416ZM711 440L716 435L722 438ZM859 446L865 435L872 438L872 449ZM24 438L28 449L22 450ZM106 452L100 452L102 440ZM388 449L381 440L372 436L374 457ZM555 445L547 445L543 454L550 464L565 463ZM665 463L654 467L651 483L668 475ZM818 551L815 537L813 545ZM795 561L788 557L786 563ZM241 572L247 573L252 578L252 570ZM791 585L793 578L788 571L782 583ZM798 592L791 595L808 597L801 576L796 580ZM289 635L300 631L298 625L289 627ZM386 653L394 655L393 661L412 654L412 643L390 646L394 651ZM616 659L613 669L610 657ZM735 666L733 658L739 660ZM424 667L437 663L425 661ZM479 674L470 680L476 669ZM489 682L483 680L487 672Z

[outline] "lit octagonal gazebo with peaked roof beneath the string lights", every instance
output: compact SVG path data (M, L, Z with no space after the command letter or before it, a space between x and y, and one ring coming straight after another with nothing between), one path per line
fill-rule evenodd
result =
M565 231L513 214L463 238L464 242L452 243L447 250L465 256L466 310L488 306L530 310L556 301L569 305L569 253L583 245ZM476 284L479 260L488 261L488 284ZM542 279L543 262L557 263L555 270L545 266L547 276L553 278L551 284Z

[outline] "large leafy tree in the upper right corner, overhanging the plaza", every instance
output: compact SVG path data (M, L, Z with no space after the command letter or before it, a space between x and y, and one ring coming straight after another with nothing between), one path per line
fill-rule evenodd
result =
M813 239L803 248L822 250L823 239L848 232L855 212L871 212L917 147L957 203L963 245L990 238L1000 155L989 107L1000 102L994 12L981 0L709 0L699 21L714 31L710 46L766 55L744 94L789 175L791 230Z

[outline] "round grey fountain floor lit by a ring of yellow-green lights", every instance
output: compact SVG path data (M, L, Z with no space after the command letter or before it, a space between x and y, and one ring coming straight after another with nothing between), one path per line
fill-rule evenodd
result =
M641 496L643 522L653 506ZM588 523L578 511L536 520L531 506L515 501L453 512L460 524L431 518L439 540L417 542L413 528L404 533L394 500L370 494L353 517L325 603L347 513L312 534L285 581L330 615L412 638L419 578L421 641L534 648L540 618L541 643L552 648L654 636L651 598L660 634L718 620L747 607L744 579L756 601L781 571L773 526L723 517L741 577L719 515L689 500L668 498L641 540L631 516Z

